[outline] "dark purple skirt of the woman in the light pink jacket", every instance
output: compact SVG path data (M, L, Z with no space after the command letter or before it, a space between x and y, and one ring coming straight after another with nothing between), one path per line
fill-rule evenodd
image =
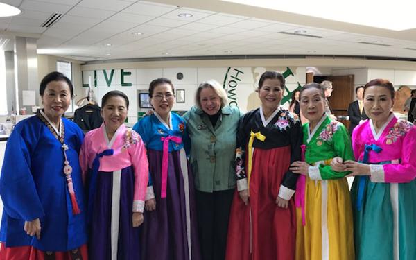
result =
M140 260L139 229L132 227L135 174L99 171L89 239L89 259Z

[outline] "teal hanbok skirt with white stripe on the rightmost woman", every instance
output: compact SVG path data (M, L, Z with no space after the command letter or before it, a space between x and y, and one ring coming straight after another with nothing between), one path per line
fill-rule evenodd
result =
M361 211L357 209L359 178L351 195L357 260L416 259L416 181L376 183L365 178Z

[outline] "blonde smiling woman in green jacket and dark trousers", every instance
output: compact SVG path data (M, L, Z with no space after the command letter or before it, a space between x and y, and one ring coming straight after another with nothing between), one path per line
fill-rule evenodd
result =
M236 133L243 112L227 105L227 93L216 80L199 85L195 103L182 118L191 137L202 259L223 260L236 186Z

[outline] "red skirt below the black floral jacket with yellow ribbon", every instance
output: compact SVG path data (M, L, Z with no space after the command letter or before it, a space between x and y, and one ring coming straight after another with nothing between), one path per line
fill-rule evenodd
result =
M247 160L246 155L246 169ZM289 200L287 209L276 204L290 163L290 146L270 150L254 148L249 205L245 206L236 189L229 219L226 260L295 259L294 199Z

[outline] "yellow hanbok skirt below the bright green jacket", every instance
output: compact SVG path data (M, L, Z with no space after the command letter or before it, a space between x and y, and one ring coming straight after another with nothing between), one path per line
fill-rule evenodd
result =
M315 181L306 177L306 226L300 208L296 208L296 218L296 260L355 259L347 179Z

